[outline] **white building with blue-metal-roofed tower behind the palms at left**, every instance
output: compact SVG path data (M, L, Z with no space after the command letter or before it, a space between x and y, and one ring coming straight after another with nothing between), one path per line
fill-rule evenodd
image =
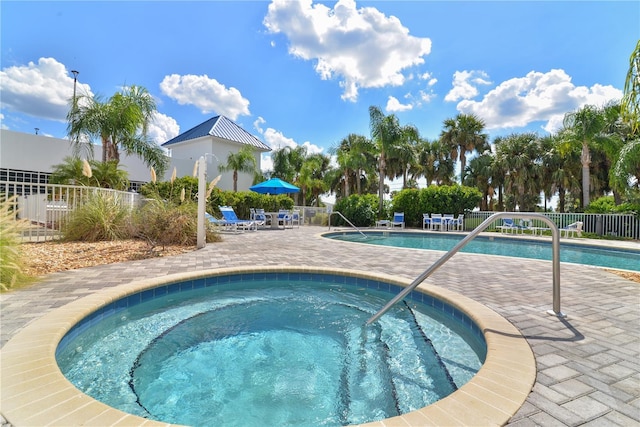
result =
M174 167L178 177L191 176L194 163L201 156L207 161L207 177L211 180L220 174L218 166L227 163L229 154L237 153L245 145L253 147L260 170L261 154L271 148L228 118L213 117L162 144L170 156L170 167L164 180L170 179ZM102 147L94 145L93 149L93 158L100 159ZM54 166L72 155L72 146L67 139L0 129L0 181L46 184ZM120 167L129 174L134 190L151 180L149 168L138 157L122 153ZM218 188L233 189L233 172L221 175ZM252 183L253 176L239 173L239 191L248 190Z

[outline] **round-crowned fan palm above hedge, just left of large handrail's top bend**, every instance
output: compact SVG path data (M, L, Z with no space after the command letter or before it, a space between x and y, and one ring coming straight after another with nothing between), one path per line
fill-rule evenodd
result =
M440 139L451 149L454 161L460 160L460 183L464 182L467 152L483 153L489 149L487 135L482 133L484 126L484 121L474 114L458 114L455 119L444 121Z

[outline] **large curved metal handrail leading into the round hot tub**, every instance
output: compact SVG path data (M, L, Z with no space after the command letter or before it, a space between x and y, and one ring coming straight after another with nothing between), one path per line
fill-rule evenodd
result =
M449 258L462 249L467 243L473 240L478 234L484 231L491 223L500 218L515 218L515 219L539 219L549 226L551 229L551 248L553 254L553 310L548 310L547 313L557 317L567 317L562 311L560 311L560 232L556 224L546 216L534 213L534 212L499 212L491 215L485 219L479 226L477 226L471 233L469 233L464 239L462 239L456 246L449 252L444 254L439 260L433 263L431 267L426 269L422 274L415 278L413 282L406 288L404 288L398 295L393 297L384 307L382 307L376 314L371 316L367 320L367 325L375 322L386 313L391 307L393 307L398 301L402 300L409 292L413 291L420 283L422 283L431 273L436 271L442 264L447 262Z

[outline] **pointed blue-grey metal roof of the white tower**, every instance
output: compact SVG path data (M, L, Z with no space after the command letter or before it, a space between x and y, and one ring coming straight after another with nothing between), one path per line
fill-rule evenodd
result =
M262 151L271 151L271 147L260 141L255 136L251 135L246 130L242 129L235 122L226 118L225 116L216 116L204 123L200 123L199 125L189 129L188 131L183 132L175 138L165 142L164 144L162 144L162 146L167 147L169 145L201 138L207 135L215 136L217 138L226 139L228 141L233 141L240 144L250 145Z

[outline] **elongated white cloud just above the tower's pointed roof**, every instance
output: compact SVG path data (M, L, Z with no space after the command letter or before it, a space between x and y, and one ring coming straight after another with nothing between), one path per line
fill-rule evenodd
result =
M236 120L248 116L249 101L234 87L227 89L207 75L165 76L160 83L162 93L180 105L194 105L204 114L215 112Z

